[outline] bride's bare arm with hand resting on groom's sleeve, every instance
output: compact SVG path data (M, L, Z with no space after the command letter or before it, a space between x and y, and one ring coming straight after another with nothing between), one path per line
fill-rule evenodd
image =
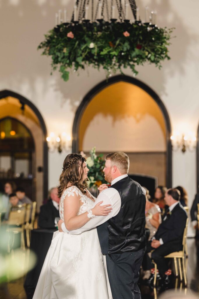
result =
M107 216L111 212L111 205L103 205L99 202L92 208L92 214L95 216ZM88 218L88 212L77 215L80 209L80 196L73 193L73 195L66 195L64 199L64 224L68 231L82 227L91 218Z

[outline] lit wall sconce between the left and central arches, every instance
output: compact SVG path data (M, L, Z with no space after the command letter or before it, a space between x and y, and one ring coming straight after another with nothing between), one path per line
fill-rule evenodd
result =
M61 153L62 150L67 152L71 148L71 137L65 132L58 136L55 136L55 133L51 132L46 140L48 142L49 152L55 152L56 150L58 150L59 153Z

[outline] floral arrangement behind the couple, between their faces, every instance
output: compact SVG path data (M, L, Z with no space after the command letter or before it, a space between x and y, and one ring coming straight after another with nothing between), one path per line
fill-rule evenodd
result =
M93 147L90 150L90 157L86 158L87 161L87 167L89 168L89 172L88 172L88 185L89 187L99 187L101 184L106 183L106 181L104 180L104 173L103 173L103 169L104 169L104 165L105 162L102 159L103 154L100 155L96 155L96 149L95 147Z

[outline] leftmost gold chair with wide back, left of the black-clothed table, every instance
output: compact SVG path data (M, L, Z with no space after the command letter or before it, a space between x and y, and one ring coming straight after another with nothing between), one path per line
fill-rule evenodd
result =
M25 249L24 240L24 222L26 215L26 205L17 205L10 209L7 221L7 231L13 233L13 244L15 234L21 234L21 247ZM10 252L10 242L8 244L8 252Z

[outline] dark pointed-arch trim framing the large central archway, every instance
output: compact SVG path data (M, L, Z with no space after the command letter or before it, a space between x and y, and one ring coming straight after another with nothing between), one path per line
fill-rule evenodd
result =
M138 79L135 79L130 76L125 75L117 75L109 78L108 80L104 80L97 84L95 87L93 87L83 98L82 102L80 103L76 113L75 118L72 126L72 152L78 152L79 151L79 125L81 121L81 117L84 113L84 110L86 109L87 105L90 103L92 98L98 94L101 90L106 88L107 86L117 83L120 81L132 83L144 91L146 91L158 104L160 107L165 120L166 125L166 187L170 188L172 187L172 145L171 145L171 123L169 119L169 114L166 110L166 107L164 106L162 100L158 96L158 94L155 93L149 86L147 86L145 83L141 82Z

